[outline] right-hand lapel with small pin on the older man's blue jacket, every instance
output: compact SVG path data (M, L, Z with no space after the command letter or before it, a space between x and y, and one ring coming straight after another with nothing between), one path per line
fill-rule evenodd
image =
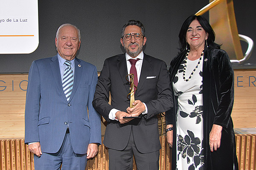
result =
M70 96L70 101L73 99L73 96L76 94L76 90L79 86L79 82L81 79L82 71L83 71L83 65L80 63L81 61L77 58L75 58L75 77L74 77L74 84L73 84L73 89L72 93Z

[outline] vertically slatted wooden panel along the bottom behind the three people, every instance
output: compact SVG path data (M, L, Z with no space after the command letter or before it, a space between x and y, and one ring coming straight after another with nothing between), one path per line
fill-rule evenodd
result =
M103 140L103 138L102 138ZM166 136L160 136L159 170L171 170L171 150ZM108 170L108 150L104 144L98 147L99 152L87 161L85 170ZM255 170L256 166L256 135L236 135L236 154L240 170ZM29 152L24 139L0 140L0 170L34 170L33 154ZM133 170L136 170L134 161Z

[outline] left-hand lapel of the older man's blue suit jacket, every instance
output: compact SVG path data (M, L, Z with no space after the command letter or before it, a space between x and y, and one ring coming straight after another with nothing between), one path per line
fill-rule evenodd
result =
M57 55L52 57L52 62L50 63L51 69L52 69L52 74L55 79L55 83L57 85L58 90L61 93L61 96L67 101L67 98L64 94L63 88L62 88L62 82L61 82L61 73L60 73L60 66L58 62L58 57Z

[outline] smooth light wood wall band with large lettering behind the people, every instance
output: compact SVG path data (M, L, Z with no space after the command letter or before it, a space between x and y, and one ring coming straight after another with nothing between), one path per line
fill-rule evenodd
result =
M24 138L27 79L28 74L0 74L0 139ZM235 70L234 82L234 127L256 127L256 69Z

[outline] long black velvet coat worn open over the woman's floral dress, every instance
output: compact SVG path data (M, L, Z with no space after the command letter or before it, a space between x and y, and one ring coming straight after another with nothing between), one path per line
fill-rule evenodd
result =
M186 51L177 55L170 64L171 82L177 73ZM204 169L238 170L236 142L231 119L234 102L234 72L227 53L219 49L205 47L203 59L203 126L204 126ZM173 88L173 87L172 87ZM173 89L172 89L173 90ZM176 170L176 113L177 96L174 107L166 112L166 125L173 125L172 170ZM212 125L221 125L221 146L217 151L210 151L209 133Z

